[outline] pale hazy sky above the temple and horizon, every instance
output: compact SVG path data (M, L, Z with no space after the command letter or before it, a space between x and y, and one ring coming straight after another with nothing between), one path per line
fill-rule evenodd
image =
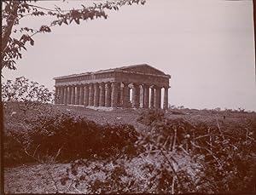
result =
M111 11L108 20L56 26L34 39L18 70L4 71L5 78L25 76L54 89L53 77L147 63L172 75L172 105L256 111L252 1L147 0Z

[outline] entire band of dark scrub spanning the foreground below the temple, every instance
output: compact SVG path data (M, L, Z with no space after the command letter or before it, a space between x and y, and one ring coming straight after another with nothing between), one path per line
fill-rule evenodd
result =
M135 129L53 108L5 113L5 165L46 164L53 192L255 192L255 117L191 123L148 110ZM55 163L68 163L61 177Z

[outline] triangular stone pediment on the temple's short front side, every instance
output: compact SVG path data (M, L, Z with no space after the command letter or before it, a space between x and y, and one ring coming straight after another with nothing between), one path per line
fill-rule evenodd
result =
M149 66L147 64L135 65L135 66L124 66L124 67L120 67L119 70L127 71L127 72L139 72L139 73L145 73L145 74L166 75L164 72L161 72L160 70L152 66Z

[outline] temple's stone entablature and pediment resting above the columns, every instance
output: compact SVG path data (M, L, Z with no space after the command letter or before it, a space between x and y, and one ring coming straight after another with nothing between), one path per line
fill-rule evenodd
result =
M55 77L56 84L85 84L85 83L144 83L157 86L169 86L170 75L149 66L140 64L134 66L122 66L97 72L84 72L63 77Z

